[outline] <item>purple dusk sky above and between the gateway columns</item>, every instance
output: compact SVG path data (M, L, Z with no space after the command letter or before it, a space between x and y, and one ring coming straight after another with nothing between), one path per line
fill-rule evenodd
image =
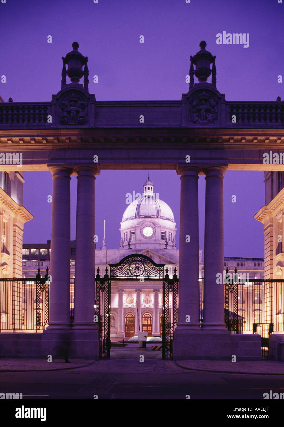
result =
M73 41L88 56L89 91L97 100L179 100L187 93L190 55L205 40L216 55L217 89L227 100L284 98L284 3L277 0L6 0L0 3L0 95L5 102L50 101L61 87L61 56ZM223 31L249 33L249 47L217 45ZM52 43L47 36L52 35ZM139 36L145 38L139 43ZM92 76L98 75L98 83ZM197 82L197 79L195 79ZM211 79L209 79L211 81ZM69 82L69 79L67 80ZM96 234L106 220L108 249L119 248L126 193L142 193L148 171L102 171L96 178ZM150 171L154 191L173 210L179 231L180 180L175 171ZM263 172L226 172L225 255L264 257L263 225L253 215L264 205ZM23 205L35 216L24 243L50 239L50 172L26 172ZM231 202L236 195L237 203ZM204 249L205 180L199 177L199 245ZM76 176L71 179L71 239L76 227ZM177 241L179 235L177 233ZM178 243L178 242L177 242ZM178 245L177 245L178 247Z

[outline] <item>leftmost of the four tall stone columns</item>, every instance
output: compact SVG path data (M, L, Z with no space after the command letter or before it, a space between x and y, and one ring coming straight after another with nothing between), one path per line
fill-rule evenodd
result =
M47 330L70 324L70 175L72 169L51 167L53 175L50 253L50 316Z

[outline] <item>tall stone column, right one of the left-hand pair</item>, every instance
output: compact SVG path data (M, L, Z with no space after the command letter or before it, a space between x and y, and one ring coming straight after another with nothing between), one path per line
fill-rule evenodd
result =
M96 168L77 167L77 215L74 322L75 329L94 329L95 301L95 174Z

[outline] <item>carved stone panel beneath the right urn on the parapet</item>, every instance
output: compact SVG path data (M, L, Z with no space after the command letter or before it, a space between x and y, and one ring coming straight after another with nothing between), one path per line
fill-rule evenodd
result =
M189 123L211 125L218 123L218 99L206 92L189 101Z

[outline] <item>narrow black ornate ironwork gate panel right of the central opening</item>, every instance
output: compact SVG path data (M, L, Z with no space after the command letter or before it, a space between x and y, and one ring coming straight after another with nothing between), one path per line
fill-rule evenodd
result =
M176 267L172 279L169 278L166 269L163 281L162 359L173 358L173 336L178 322L178 283Z

